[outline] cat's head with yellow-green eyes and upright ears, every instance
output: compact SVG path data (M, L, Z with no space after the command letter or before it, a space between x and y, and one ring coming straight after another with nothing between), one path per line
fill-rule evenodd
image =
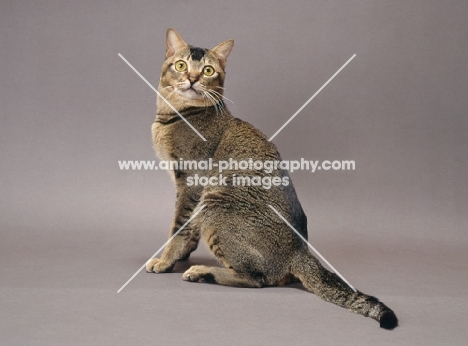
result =
M166 34L166 60L159 92L178 110L207 107L222 100L226 60L233 40L212 49L188 45L174 29ZM163 103L158 100L158 108Z

